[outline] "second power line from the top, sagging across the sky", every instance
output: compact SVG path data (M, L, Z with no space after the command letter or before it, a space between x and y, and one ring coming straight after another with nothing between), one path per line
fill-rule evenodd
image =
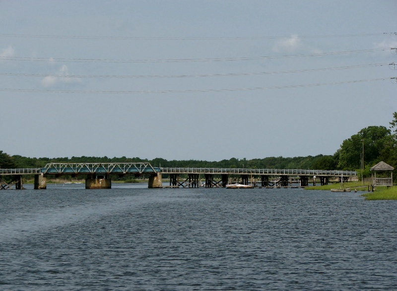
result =
M174 59L111 59L111 58L33 58L33 57L1 57L2 60L18 61L50 61L50 62L110 62L110 63L153 63L153 62L204 62L204 61L240 61L240 60L258 60L273 58L299 58L299 57L320 57L356 53L369 53L376 51L385 51L390 48L368 49L342 52L317 53L306 55L282 55L282 56L259 56L259 57L240 57L240 58L174 58Z

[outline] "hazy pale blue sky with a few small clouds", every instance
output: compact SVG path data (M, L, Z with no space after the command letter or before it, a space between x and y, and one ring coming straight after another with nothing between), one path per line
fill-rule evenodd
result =
M396 0L0 0L0 150L333 155L397 111Z

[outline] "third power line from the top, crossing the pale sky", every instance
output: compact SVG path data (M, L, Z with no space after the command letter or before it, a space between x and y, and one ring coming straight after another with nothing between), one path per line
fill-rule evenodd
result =
M60 78L189 78L189 77L225 77L225 76L253 76L265 74L284 74L284 73L302 73L313 71L327 71L327 70L343 70L354 69L362 67L374 67L390 65L389 63L375 63L363 65L351 65L341 67L327 67L303 70L290 71L269 71L269 72L252 72L252 73L219 73L219 74L190 74L190 75L62 75L62 74L27 74L27 73L2 73L0 76L23 76L23 77L60 77Z

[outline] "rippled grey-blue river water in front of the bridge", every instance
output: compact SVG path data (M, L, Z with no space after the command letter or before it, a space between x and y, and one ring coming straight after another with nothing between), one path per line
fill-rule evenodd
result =
M397 290L396 201L133 187L0 191L0 290Z

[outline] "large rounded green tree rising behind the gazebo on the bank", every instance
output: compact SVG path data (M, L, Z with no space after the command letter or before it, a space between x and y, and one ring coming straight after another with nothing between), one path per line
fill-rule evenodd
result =
M372 164L378 161L390 135L391 130L385 126L368 126L345 139L340 145L338 168L342 170L360 169L363 144L364 163Z

